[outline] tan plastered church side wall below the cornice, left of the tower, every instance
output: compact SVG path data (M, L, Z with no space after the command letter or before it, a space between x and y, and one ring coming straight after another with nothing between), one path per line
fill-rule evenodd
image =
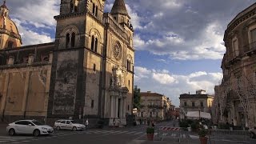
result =
M49 97L49 86L46 85L50 85L50 74L45 73L50 73L50 68L50 65L45 65L3 70L3 74L9 75L9 78L3 81L3 74L0 74L0 93L3 94L2 98L6 98L6 106L2 105L2 101L1 109L6 120L9 118L12 121L10 116L15 116L16 119L24 116L46 116L44 108L47 107L46 100Z

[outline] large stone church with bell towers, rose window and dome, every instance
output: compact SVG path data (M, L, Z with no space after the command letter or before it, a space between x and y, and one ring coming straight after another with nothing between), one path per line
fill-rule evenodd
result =
M104 6L105 0L62 0L54 16L55 42L20 46L14 22L14 34L1 29L11 37L7 44L14 42L0 51L3 120L86 117L126 125L133 101L134 30L124 0L115 0L110 13ZM5 10L6 4L1 14Z

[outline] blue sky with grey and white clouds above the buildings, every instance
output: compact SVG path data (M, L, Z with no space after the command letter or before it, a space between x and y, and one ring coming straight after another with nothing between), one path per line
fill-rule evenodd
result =
M114 0L106 0L110 12ZM254 0L125 0L134 26L134 85L164 94L179 106L180 94L222 81L228 23ZM7 0L23 46L54 42L60 0Z

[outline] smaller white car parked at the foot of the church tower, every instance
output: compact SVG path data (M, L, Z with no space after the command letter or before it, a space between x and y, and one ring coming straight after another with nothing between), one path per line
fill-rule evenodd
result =
M78 122L75 122L74 120L65 120L61 119L56 122L54 122L54 128L56 130L84 130L86 128L85 125L79 124Z

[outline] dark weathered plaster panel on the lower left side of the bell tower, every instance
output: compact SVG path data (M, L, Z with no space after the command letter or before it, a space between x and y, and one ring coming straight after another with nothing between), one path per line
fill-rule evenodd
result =
M52 114L74 115L77 92L78 51L58 53Z

